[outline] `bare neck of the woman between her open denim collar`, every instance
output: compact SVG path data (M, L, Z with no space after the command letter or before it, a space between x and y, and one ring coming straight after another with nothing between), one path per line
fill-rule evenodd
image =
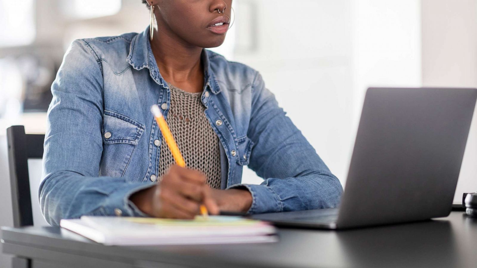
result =
M188 92L203 90L202 48L190 46L178 36L159 30L154 33L151 49L166 82Z

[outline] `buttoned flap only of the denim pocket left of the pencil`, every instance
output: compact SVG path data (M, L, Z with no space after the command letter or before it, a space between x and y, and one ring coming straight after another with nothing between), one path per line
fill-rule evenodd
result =
M126 143L136 145L144 132L144 126L119 113L104 111L104 144Z

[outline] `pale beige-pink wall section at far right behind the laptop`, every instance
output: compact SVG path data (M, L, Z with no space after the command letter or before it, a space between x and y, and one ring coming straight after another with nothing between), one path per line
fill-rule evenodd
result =
M422 0L423 84L477 87L477 1ZM477 191L477 113L471 124L454 202Z

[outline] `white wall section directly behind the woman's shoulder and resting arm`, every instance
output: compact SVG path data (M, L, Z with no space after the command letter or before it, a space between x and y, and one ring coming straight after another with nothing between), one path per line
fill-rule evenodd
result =
M238 30L236 39L252 40L255 34L257 41L241 43L235 60L262 74L280 106L343 179L352 141L351 1L240 0L240 27L250 20L241 3L251 2L259 12L251 22L255 32ZM244 170L244 183L261 181Z

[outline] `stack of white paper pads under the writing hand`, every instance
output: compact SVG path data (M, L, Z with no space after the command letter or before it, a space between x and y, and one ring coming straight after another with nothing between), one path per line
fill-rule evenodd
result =
M269 223L233 216L194 220L82 216L60 226L105 245L178 245L274 242Z

